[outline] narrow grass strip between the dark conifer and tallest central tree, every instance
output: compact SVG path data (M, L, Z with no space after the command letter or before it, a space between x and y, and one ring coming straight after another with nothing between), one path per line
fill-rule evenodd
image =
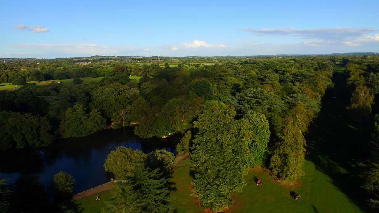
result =
M192 177L189 175L189 158L182 160L174 168L171 185L170 199L172 208L170 213L196 213L203 212L196 199L191 196Z

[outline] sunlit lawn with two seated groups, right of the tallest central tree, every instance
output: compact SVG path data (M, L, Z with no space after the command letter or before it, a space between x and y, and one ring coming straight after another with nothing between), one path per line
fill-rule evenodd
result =
M266 169L251 169L246 175L247 185L233 195L233 207L227 212L364 212L311 161L305 161L303 169L305 176L293 186L273 180ZM264 185L257 186L254 177ZM291 192L301 195L301 199L294 200Z

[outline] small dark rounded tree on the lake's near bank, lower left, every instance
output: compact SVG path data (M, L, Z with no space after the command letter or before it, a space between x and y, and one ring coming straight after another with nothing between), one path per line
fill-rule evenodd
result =
M50 189L56 201L68 201L75 194L75 179L67 172L60 171L56 173L50 183Z

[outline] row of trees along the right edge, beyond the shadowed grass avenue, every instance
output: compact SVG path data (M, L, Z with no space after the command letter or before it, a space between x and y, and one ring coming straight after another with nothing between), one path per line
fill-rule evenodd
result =
M366 201L379 209L379 57L353 56L345 58L346 82L351 90L347 110L357 126L357 138L362 153L357 159L357 178L366 191Z

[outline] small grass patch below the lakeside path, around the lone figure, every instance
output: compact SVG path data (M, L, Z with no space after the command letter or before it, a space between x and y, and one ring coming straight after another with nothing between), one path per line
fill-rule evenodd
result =
M111 190L108 190L101 193L100 200L96 200L97 196L99 196L99 194L92 194L88 197L75 200L75 204L83 208L83 213L99 213L104 205L104 201L109 201L113 194Z

